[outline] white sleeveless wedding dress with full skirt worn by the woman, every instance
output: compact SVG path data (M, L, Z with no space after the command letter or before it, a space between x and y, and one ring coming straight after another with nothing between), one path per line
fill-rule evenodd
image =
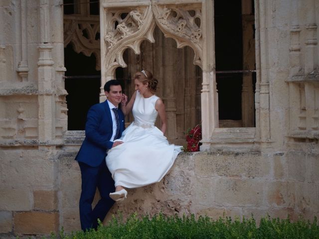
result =
M173 165L180 147L169 144L159 128L154 126L159 97L144 98L139 92L133 105L134 122L118 140L124 143L110 149L106 164L115 186L137 188L160 182Z

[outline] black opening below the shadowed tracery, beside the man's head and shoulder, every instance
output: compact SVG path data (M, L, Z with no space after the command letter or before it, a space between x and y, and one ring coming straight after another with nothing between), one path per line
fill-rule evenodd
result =
M68 130L84 130L89 108L99 103L101 71L95 70L93 54L76 53L71 44L64 48L64 65Z

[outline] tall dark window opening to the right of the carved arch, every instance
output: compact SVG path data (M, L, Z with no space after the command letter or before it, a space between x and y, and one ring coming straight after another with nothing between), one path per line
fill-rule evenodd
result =
M255 62L255 56L248 55L247 50L246 54L243 52L244 46L247 45L246 41L254 39L254 25L250 27L253 30L251 35L247 32L244 34L244 24L253 23L248 22L246 19L249 18L245 18L246 16L242 14L241 3L241 0L214 2L215 64L220 127L255 126L254 122L251 122L252 118L248 123L242 121L243 114L254 108L252 94L255 92L256 77L255 64L252 64L252 61ZM253 15L253 11L252 9L250 15ZM253 93L243 94L243 85L252 86ZM243 97L249 97L250 103L247 104L247 100Z

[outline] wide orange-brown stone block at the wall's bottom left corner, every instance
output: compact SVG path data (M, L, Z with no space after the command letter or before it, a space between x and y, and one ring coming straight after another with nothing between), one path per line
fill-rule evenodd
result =
M49 235L59 228L58 212L19 212L13 217L17 235Z

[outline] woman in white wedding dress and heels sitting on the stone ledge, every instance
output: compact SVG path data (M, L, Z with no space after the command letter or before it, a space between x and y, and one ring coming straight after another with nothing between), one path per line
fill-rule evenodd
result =
M134 76L135 93L122 111L133 111L134 121L118 139L122 144L109 150L106 164L115 181L115 192L110 197L122 201L127 197L125 188L138 188L160 182L173 165L180 146L169 144L164 136L167 120L162 100L155 95L158 81L149 71ZM160 116L161 127L155 120Z

